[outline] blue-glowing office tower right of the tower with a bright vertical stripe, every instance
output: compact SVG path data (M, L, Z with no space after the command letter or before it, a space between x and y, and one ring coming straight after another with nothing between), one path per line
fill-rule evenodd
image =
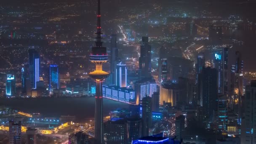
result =
M60 86L59 78L59 68L56 64L50 65L50 81L49 81L49 90L59 89Z

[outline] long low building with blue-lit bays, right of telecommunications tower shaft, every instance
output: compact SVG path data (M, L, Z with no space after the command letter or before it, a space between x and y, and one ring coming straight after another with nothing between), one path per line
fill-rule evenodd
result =
M136 104L135 91L131 88L119 88L115 85L103 85L102 94L104 98L120 101L127 104Z

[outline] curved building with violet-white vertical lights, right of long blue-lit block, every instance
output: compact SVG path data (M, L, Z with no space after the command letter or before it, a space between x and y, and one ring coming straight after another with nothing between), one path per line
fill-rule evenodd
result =
M144 79L135 83L136 96L139 100L142 100L144 97L152 97L152 94L157 92L157 84L155 80Z

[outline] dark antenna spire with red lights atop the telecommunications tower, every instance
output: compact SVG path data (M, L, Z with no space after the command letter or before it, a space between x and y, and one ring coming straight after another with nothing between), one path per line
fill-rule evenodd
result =
M96 47L102 47L101 42L101 2L98 0L98 14L97 14L97 37L96 37Z

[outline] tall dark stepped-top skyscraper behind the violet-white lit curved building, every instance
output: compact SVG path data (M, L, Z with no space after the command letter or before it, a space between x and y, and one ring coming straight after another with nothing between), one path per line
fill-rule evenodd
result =
M141 70L142 79L151 77L151 45L149 45L149 37L142 37L139 69Z

